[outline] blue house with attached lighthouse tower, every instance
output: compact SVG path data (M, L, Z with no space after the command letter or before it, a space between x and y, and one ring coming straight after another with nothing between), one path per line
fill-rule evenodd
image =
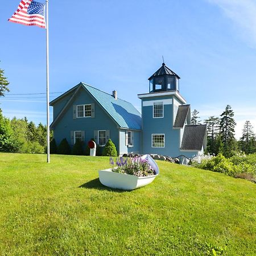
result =
M203 154L207 126L191 125L190 105L179 93L179 79L164 63L148 80L149 92L138 94L142 114L129 102L80 82L55 100L51 129L57 144L66 138L94 138L104 147L109 138L122 154L167 156Z

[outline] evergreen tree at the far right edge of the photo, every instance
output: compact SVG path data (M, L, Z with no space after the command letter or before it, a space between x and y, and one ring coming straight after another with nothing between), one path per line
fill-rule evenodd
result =
M256 151L255 149L255 134L253 133L253 126L250 121L245 121L242 130L242 137L239 141L240 149L245 154L251 154Z

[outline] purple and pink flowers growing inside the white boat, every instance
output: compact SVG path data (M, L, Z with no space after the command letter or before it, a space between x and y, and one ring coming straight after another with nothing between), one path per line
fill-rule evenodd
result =
M135 175L138 177L155 175L147 159L142 158L110 158L113 172Z

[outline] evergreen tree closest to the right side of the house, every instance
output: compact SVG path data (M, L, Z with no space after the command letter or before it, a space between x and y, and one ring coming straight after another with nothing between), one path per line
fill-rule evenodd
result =
M220 130L220 118L211 116L208 119L205 119L207 123L207 152L210 154L218 154L216 148L217 135Z

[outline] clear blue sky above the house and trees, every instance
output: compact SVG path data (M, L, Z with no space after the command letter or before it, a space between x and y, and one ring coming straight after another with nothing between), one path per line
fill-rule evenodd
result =
M43 1L41 1L43 2ZM7 22L19 5L0 10L0 68L10 93L0 98L7 117L46 123L46 32ZM130 101L166 65L201 119L231 105L236 137L248 119L256 131L256 1L49 0L50 99L80 81Z

